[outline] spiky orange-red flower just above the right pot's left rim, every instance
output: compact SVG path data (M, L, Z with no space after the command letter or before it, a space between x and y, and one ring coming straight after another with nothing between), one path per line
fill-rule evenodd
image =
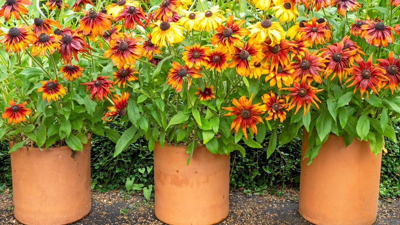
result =
M324 89L314 88L313 86L307 84L306 81L307 77L304 76L301 83L295 81L292 88L281 88L281 90L290 90L292 92L288 95L292 96L288 105L288 110L291 110L292 108L294 108L294 106L297 106L294 114L296 114L301 106L303 106L304 115L306 115L306 113L310 111L311 102L314 103L317 108L319 107L315 100L321 103L321 101L317 98L315 94Z

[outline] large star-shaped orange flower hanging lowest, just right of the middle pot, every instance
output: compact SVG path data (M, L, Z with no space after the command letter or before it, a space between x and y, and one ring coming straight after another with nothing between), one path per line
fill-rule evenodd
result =
M253 94L250 96L249 100L247 100L246 96L240 97L239 100L234 98L232 100L232 104L234 104L236 107L222 107L223 109L231 111L226 113L224 116L236 116L236 118L232 121L230 130L232 131L232 129L235 128L236 134L238 134L240 127L246 139L246 128L252 129L252 131L257 134L256 125L260 122L264 123L260 115L264 114L266 111L265 105L260 106L261 103L252 104L252 101Z

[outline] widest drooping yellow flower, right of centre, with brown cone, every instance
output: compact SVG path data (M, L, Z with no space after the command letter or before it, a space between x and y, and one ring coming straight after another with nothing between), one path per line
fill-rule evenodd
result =
M281 39L285 39L286 32L279 22L271 22L268 19L247 27L250 30L249 36L255 40L256 44L261 44L266 38L272 40L271 45L279 44Z

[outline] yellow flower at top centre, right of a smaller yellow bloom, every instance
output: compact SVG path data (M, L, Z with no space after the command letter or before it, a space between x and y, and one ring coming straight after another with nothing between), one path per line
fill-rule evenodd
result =
M225 21L224 15L220 14L219 6L210 8L207 12L200 12L198 14L198 28L210 32L215 30L222 22Z

